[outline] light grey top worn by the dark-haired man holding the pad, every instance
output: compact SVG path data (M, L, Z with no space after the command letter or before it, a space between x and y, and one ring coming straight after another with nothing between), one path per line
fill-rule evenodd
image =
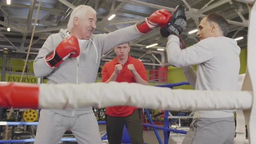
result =
M182 67L187 81L196 90L238 91L240 47L234 39L209 37L187 49L180 49L179 38L168 36L168 62ZM197 64L197 72L190 65ZM202 100L203 101L203 100ZM227 118L233 111L195 111L194 118Z

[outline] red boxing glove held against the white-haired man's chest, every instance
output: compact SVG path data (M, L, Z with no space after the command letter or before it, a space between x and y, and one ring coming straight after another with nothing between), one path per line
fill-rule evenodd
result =
M80 54L78 39L75 36L70 36L66 39L63 39L62 42L50 52L46 57L46 64L50 68L56 68L61 62L66 58L77 57Z

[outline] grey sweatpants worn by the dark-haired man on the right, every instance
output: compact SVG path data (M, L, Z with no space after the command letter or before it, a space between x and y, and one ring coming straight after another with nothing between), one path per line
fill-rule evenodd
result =
M182 144L232 144L235 131L234 117L195 118Z

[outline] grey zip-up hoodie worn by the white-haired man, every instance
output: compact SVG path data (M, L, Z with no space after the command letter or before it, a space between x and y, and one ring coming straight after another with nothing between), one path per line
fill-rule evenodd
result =
M48 83L54 84L93 83L97 77L98 67L102 55L121 43L129 42L141 36L141 33L137 31L135 25L118 29L108 34L92 35L90 39L83 40L82 44L79 43L79 57L69 57L56 69L51 69L46 64L44 57L49 52L53 51L53 49L55 49L64 38L69 36L67 33L67 29L61 29L59 33L52 34L46 39L33 64L34 74L36 77L46 76L46 78L49 79ZM76 117L82 114L91 113L92 107L79 110L67 109L51 111L54 111L60 115Z

